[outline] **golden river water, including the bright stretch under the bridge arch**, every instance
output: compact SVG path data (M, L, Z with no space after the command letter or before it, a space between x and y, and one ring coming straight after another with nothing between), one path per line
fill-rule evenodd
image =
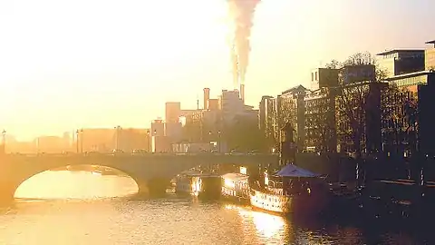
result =
M226 203L135 197L128 177L45 171L0 207L0 244L430 244L413 232L304 220ZM413 235L411 235L413 234ZM433 242L433 241L432 241Z

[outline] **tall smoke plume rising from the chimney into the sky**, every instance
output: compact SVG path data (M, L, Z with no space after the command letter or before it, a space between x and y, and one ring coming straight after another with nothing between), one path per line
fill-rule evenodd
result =
M256 5L260 0L227 0L229 15L234 22L234 33L231 38L231 58L233 63L234 85L245 83L249 52L249 37L253 26Z

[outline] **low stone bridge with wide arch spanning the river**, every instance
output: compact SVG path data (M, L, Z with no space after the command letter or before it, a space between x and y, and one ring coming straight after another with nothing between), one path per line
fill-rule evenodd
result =
M147 193L162 191L181 171L198 165L230 163L254 167L278 162L279 157L272 154L5 155L0 156L0 200L13 198L16 189L32 176L65 166L99 165L116 169L136 181L140 193Z

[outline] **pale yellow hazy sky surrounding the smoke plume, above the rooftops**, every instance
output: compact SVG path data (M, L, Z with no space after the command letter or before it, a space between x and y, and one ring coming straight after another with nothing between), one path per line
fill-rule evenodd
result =
M333 3L333 4L332 4ZM433 0L263 0L247 103L358 51L424 47ZM148 127L232 88L225 0L0 0L0 128L21 139L78 127Z

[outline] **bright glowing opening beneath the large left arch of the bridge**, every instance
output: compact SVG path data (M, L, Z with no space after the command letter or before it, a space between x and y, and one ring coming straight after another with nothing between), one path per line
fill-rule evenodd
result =
M24 181L15 198L92 200L135 194L138 186L130 177L90 171L44 171Z

